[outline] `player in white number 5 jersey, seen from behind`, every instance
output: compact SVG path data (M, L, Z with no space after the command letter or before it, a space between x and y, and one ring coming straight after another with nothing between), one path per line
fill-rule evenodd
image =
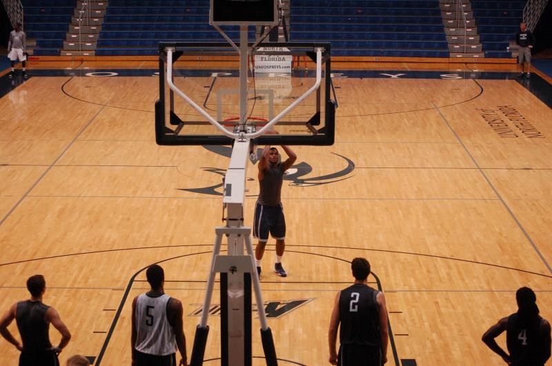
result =
M159 265L146 270L151 290L132 301L132 366L188 365L182 303L164 292L165 274Z

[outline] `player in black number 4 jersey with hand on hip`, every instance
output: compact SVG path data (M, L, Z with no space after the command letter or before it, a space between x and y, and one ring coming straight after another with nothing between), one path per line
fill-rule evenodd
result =
M544 366L550 358L550 323L539 316L537 296L529 287L518 289L515 300L517 312L500 319L483 334L482 340L509 365ZM504 331L509 354L495 340Z

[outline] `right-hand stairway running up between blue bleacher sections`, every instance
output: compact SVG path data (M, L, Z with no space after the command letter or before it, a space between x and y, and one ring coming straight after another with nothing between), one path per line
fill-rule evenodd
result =
M484 57L470 1L440 0L439 2L451 57Z

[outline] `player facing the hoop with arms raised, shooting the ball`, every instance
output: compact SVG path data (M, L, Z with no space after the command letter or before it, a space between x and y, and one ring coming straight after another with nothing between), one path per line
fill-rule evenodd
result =
M261 260L268 242L269 234L276 239L275 272L282 277L287 273L282 267L282 256L286 247L286 221L282 207L282 183L284 172L292 167L297 155L288 146L282 145L288 159L282 163L277 148L266 146L259 161L259 198L255 205L255 219L253 221L253 236L258 239L255 248L257 273L261 275Z

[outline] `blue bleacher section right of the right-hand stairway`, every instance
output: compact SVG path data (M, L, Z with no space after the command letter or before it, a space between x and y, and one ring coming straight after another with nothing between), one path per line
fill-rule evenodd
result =
M485 57L512 57L506 48L520 30L525 3L524 0L471 0Z

